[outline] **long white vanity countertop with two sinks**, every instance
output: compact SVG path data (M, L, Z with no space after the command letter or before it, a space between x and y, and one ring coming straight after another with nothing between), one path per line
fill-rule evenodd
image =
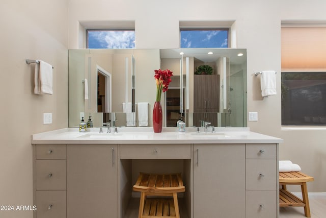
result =
M79 132L78 128L65 128L32 135L32 144L198 144L198 143L281 143L283 139L249 131L249 128L217 128L215 133L197 133L193 127L177 132L176 127L163 128L154 133L152 127L122 127L118 133L99 133L99 128ZM210 131L210 128L208 129Z

